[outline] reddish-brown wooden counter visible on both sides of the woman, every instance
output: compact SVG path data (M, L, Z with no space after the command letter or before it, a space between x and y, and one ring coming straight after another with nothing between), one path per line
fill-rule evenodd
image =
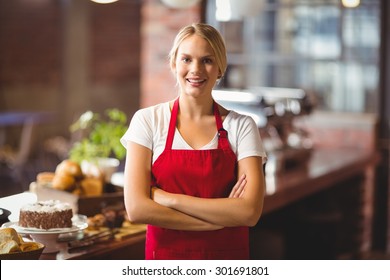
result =
M314 150L305 168L267 176L263 216L334 186L342 188L345 180L356 177L360 182L356 191L361 194L362 201L359 210L361 221L358 221L362 225L359 250L368 251L371 248L374 174L378 162L376 154L364 150ZM145 234L142 232L123 241L94 245L79 252L67 253L64 249L55 256L43 254L42 259L143 259L144 244Z

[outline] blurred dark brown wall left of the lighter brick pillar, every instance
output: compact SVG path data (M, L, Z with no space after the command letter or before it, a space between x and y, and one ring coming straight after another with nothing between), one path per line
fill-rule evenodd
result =
M87 109L139 107L141 1L0 1L0 111L54 111L67 135ZM10 142L15 142L12 138Z

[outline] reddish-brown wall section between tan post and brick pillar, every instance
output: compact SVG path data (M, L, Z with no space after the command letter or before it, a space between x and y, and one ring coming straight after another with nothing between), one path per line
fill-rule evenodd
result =
M120 84L139 80L141 5L118 1L111 5L91 3L91 80Z

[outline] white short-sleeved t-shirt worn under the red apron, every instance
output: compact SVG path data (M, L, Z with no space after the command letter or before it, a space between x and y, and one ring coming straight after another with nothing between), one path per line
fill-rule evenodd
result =
M122 145L126 147L127 141L132 141L149 148L153 152L154 163L165 149L170 117L169 102L138 110L134 114L128 130L121 138ZM238 161L249 156L259 156L265 163L266 153L259 130L251 117L230 111L223 121L223 127L228 132L230 147L236 154ZM216 133L214 138L201 149L216 149L217 147L218 136ZM192 149L177 129L172 149Z

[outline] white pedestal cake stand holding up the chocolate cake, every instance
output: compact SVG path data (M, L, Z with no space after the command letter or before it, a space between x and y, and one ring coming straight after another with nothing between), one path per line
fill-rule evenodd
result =
M55 253L59 251L57 240L60 235L72 234L88 227L88 223L83 216L77 215L73 217L72 221L73 225L70 228L54 228L48 230L21 227L18 222L8 222L3 224L2 227L12 227L20 234L29 235L33 241L44 244L45 249L43 253Z

